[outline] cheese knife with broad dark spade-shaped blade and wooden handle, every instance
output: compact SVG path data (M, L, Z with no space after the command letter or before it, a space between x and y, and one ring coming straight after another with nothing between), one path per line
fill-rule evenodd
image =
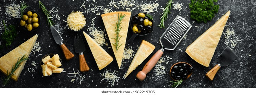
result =
M218 63L215 65L214 68L212 68L208 73L206 74L206 77L210 80L214 79L214 76L219 71L220 67L226 67L229 64L231 64L235 59L237 58L237 55L233 52L232 49L227 46L227 48L220 54L218 58Z

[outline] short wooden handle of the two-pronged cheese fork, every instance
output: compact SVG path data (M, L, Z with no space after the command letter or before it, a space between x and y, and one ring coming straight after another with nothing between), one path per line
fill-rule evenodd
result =
M87 72L90 70L90 68L88 67L84 55L79 55L79 63L80 63L80 71L81 72Z

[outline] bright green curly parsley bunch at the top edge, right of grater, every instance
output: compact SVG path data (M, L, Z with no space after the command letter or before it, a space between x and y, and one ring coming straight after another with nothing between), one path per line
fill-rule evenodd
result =
M219 5L214 4L218 0L191 0L188 5L191 9L190 18L196 20L196 22L211 21L214 14L218 13Z

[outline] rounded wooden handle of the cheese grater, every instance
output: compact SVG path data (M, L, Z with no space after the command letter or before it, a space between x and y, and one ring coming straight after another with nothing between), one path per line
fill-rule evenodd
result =
M149 61L145 64L144 68L142 69L142 71L139 71L138 74L136 75L136 77L139 80L144 80L146 78L146 74L154 68L154 66L156 65L157 61L161 58L161 56L163 55L163 52L161 50L158 50L156 52L155 55L153 55L153 57L151 57L149 59Z

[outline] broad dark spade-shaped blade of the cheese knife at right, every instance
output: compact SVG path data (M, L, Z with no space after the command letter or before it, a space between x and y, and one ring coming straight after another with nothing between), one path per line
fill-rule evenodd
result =
M237 58L237 55L233 52L229 46L220 54L218 62L221 66L228 66Z

